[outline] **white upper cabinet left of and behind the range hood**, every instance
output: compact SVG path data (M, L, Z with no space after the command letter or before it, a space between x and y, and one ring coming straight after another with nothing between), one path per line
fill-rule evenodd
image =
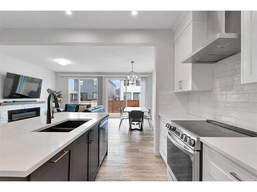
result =
M206 42L206 11L188 11L174 32L174 91L212 90L212 65L181 63L181 60Z

